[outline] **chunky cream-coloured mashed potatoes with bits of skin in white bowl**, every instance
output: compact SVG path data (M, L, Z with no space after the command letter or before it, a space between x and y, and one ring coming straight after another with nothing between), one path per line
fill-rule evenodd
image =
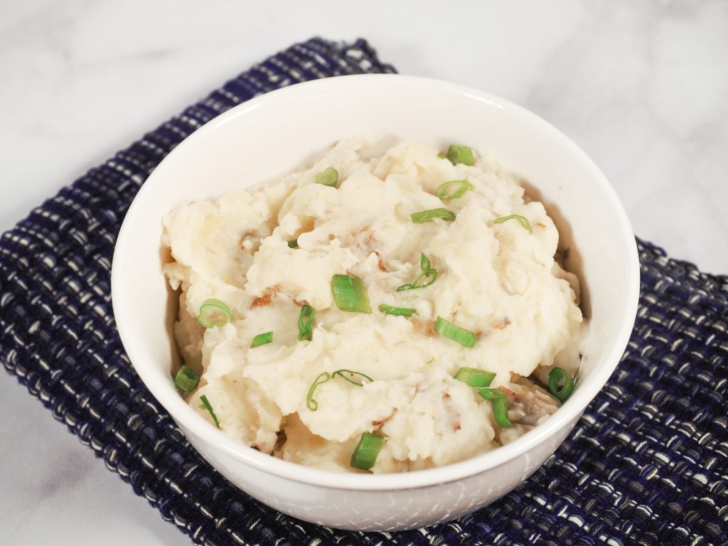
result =
M315 182L328 167L336 186ZM448 181L467 182L440 199ZM414 223L413 213L436 209L454 220ZM467 459L547 419L560 402L534 377L547 381L556 365L573 376L579 365L578 281L554 259L558 232L492 157L454 165L421 143L376 154L344 141L259 191L181 205L164 219L163 242L174 260L165 273L181 288L175 336L202 376L189 404L213 424L214 412L232 438L291 462L352 471L365 432L387 438L373 472ZM371 313L339 309L334 275L361 281ZM210 298L232 320L203 328ZM310 341L299 340L305 304L315 309ZM414 312L387 314L382 304ZM474 346L435 331L438 317ZM250 347L268 332L271 343ZM495 374L490 387L505 395L512 427L454 379L463 367ZM357 373L312 389L341 369Z

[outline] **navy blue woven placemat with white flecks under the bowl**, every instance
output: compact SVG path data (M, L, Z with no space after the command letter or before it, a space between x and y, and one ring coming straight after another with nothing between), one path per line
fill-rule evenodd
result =
M111 256L132 198L200 125L254 95L393 72L368 44L312 39L241 74L90 170L0 240L0 360L162 517L206 545L724 545L728 277L638 242L636 327L554 456L498 502L418 531L353 533L250 499L186 442L124 355Z

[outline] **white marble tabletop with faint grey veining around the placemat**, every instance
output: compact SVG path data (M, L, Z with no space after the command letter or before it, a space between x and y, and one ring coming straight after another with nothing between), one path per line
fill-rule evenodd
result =
M367 38L403 74L561 128L635 232L728 273L728 4L0 0L0 230L294 41ZM15 545L188 539L0 373L0 529Z

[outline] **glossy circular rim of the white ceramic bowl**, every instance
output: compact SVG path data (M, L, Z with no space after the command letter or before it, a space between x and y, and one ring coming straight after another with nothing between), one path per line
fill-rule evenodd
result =
M447 464L443 467L435 467L427 470L415 470L412 472L398 472L392 474L359 474L347 472L334 472L330 470L320 470L312 467L306 467L302 464L284 461L268 454L261 453L240 440L229 438L221 430L213 427L202 416L189 408L183 398L177 393L170 391L169 379L162 378L159 373L154 370L154 359L146 354L143 347L131 342L133 320L124 320L127 317L127 304L123 298L124 282L120 272L119 264L124 263L132 256L132 245L127 241L127 234L130 232L130 223L137 215L138 210L143 206L144 196L156 186L164 181L163 173L165 163L169 162L169 158L177 157L184 154L187 149L195 146L198 141L206 138L207 134L213 132L217 127L231 121L237 116L244 115L245 112L254 108L273 107L276 103L286 100L300 100L301 97L311 94L320 94L321 92L337 92L347 89L347 85L370 85L370 86L390 86L399 84L408 84L422 87L440 87L446 92L455 95L467 95L469 98L482 100L490 105L507 109L516 116L528 120L542 129L550 133L560 146L563 146L569 154L574 157L574 161L582 162L585 167L593 174L592 182L601 186L604 194L609 200L609 208L614 212L614 236L619 236L622 246L626 250L627 258L626 270L628 274L628 290L625 293L625 306L622 312L622 325L617 335L617 341L612 345L602 360L606 365L595 369L586 381L579 384L579 388L574 390L569 400L564 403L558 411L549 417L544 423L534 427L533 430L527 432L513 443L501 446L483 454L478 454L470 459L461 462ZM160 167L161 170L160 170ZM160 175L162 173L162 175ZM424 488L440 483L448 483L472 475L477 475L486 470L491 470L518 458L531 449L536 448L545 443L551 436L561 430L563 427L573 425L582 415L587 405L598 394L609 376L617 367L621 360L622 353L627 347L630 335L632 333L634 321L637 314L638 296L640 287L640 272L638 261L638 250L636 240L628 215L617 197L617 193L607 180L604 173L599 167L576 143L571 141L560 130L556 129L552 124L542 119L537 114L529 111L522 106L500 98L489 92L467 87L454 82L447 82L439 79L424 78L420 76L403 76L400 74L356 74L352 76L334 76L331 78L317 79L310 82L302 82L290 87L283 87L278 90L258 95L255 98L245 101L238 106L234 106L223 114L215 117L202 127L199 127L194 133L185 138L178 146L167 154L165 159L157 165L154 171L147 178L138 194L132 201L127 210L122 227L116 239L114 248L114 259L111 267L111 299L114 309L114 317L116 327L119 331L119 337L122 340L127 356L140 376L143 384L149 389L151 395L159 402L166 411L173 417L174 421L181 426L184 431L191 432L191 435L202 442L209 444L212 448L222 451L223 454L236 459L239 462L250 465L263 472L271 475L293 480L298 483L312 484L315 486L323 486L335 489L349 489L362 491L391 491ZM189 436L186 434L186 436ZM558 447L558 445L556 446ZM199 451L199 450L198 450ZM204 455L203 455L204 456Z

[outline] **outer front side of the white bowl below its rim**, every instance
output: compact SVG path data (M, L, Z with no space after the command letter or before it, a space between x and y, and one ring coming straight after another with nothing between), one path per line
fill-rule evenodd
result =
M336 529L403 531L451 521L507 494L553 454L578 419L575 416L546 442L497 467L444 483L394 490L324 487L272 475L180 426L200 454L231 483L282 513Z

